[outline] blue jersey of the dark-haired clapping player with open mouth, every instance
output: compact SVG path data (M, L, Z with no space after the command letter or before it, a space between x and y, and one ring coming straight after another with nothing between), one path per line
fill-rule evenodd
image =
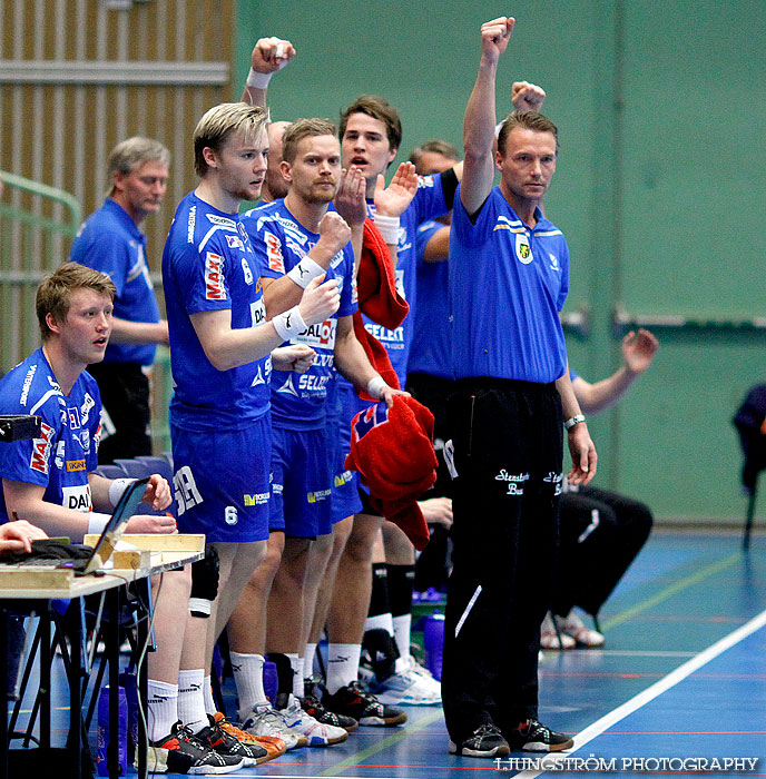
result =
M449 210L444 203L441 176L419 176L418 191L399 220L399 253L396 257L396 289L410 304L404 322L390 331L363 315L364 327L389 351L391 365L402 386L406 383L406 365L414 327L413 312L416 309L415 235L419 225L443 216ZM367 201L367 213L375 213L374 204Z

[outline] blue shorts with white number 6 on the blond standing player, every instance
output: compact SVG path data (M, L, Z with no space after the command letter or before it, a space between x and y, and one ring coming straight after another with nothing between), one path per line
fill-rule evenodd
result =
M170 425L178 530L207 541L268 538L271 416L246 430L192 432Z

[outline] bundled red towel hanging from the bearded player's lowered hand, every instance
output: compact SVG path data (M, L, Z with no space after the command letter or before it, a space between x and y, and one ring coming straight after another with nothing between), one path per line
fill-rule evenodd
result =
M351 453L345 466L360 472L370 502L399 525L416 549L429 542L418 500L436 481L433 414L413 397L396 395L387 408L377 403L351 423Z

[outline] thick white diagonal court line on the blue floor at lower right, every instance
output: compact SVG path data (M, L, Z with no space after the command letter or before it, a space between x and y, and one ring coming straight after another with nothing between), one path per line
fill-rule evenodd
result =
M579 732L574 737L574 746L568 752L553 752L547 753L547 759L549 763L552 760L562 760L568 756L576 752L578 749L585 747L589 741L592 741L597 736L600 736L605 730L611 728L612 724L625 719L628 714L632 714L642 706L646 706L655 698L658 698L664 692L669 690L671 687L678 684L678 682L684 681L687 677L693 674L696 670L700 669L703 665L715 660L719 654L723 654L726 650L731 649L735 644L739 643L743 639L746 639L756 630L759 630L766 624L766 611L762 611L757 617L754 617L749 622L746 622L742 628L737 628L733 633L725 635L720 641L716 641L711 647L708 647L705 651L700 652L696 657L691 658L688 662L679 665L675 671L668 673L667 677L655 682L651 687L648 687L644 692L639 692L637 696L631 698L629 701L622 703L613 711L601 717L601 719L596 720L592 724L589 724L585 730ZM548 769L556 770L556 769ZM519 771L515 775L517 779L534 779L546 771Z

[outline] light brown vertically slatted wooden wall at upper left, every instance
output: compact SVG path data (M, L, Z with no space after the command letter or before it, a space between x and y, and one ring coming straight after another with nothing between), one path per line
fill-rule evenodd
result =
M1 0L0 169L70 191L87 216L104 200L115 144L134 135L160 140L173 155L170 184L163 209L144 225L158 277L175 208L196 185L194 127L233 91L233 16L234 0L144 0L128 10L109 9L104 0ZM194 70L199 63L209 67ZM147 68L149 76L141 75ZM60 206L11 188L4 197L40 216L61 215ZM2 246L13 248L0 257L0 286L11 272L39 275L68 255L68 239L45 243L4 220L2 229ZM28 293L18 282L11 294L3 292L1 299L13 300L3 306L3 327L10 316L33 326L22 300ZM22 356L0 355L0 371Z

